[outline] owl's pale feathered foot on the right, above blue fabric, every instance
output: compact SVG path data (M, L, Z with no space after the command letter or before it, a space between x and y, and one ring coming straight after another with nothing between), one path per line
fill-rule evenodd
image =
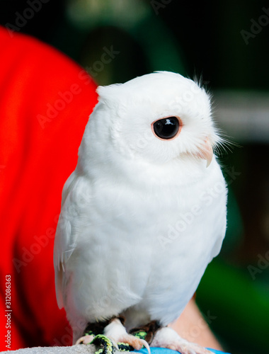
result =
M151 347L177 350L181 354L212 354L210 350L181 338L176 331L169 327L163 327L156 332Z

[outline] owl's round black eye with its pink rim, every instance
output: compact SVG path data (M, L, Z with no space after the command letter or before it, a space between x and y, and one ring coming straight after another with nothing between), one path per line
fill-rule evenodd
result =
M181 132L181 118L173 116L164 117L151 123L151 130L161 140L175 139Z

